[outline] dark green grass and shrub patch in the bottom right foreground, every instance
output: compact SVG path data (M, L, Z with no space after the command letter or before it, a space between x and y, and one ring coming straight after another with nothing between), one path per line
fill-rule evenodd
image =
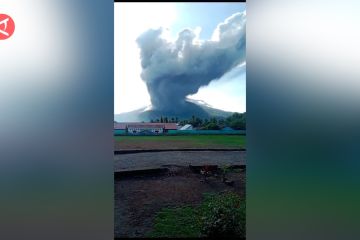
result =
M199 206L164 208L157 213L152 238L245 238L245 201L234 193L204 194Z

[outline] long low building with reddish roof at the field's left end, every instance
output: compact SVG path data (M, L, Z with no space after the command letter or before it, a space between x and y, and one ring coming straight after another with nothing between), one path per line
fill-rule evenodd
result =
M176 123L141 123L141 122L123 122L114 123L114 130L125 130L127 134L134 135L157 135L177 130Z

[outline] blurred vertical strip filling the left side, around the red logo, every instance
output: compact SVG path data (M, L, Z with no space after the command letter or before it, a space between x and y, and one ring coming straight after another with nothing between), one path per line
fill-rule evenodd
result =
M0 239L113 238L111 0L1 0Z

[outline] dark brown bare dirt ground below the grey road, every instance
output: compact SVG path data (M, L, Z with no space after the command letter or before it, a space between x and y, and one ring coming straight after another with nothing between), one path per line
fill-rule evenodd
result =
M230 190L245 197L245 169L229 173L234 185L228 186L216 177L203 182L189 167L167 167L165 175L115 178L115 238L144 237L161 208L198 204L203 193Z

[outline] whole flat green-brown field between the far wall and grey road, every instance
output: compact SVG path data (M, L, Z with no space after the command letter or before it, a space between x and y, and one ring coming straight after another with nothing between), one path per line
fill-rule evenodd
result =
M115 136L115 150L245 149L245 135Z

